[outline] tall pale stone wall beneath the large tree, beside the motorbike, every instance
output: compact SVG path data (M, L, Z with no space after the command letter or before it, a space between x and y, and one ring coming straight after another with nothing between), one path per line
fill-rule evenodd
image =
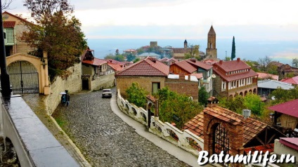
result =
M67 72L70 73L69 76L63 76L64 79L61 76L57 76L55 81L51 84L51 93L46 98L48 104L48 114L52 114L56 107L59 105L61 100L60 92L64 92L65 90L68 90L68 92L76 93L79 91L82 91L82 64L81 62L74 65L73 67L69 67L67 69Z

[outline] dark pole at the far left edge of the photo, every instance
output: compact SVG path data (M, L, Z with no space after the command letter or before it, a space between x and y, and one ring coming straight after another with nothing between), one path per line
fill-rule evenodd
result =
M2 4L0 0L0 4ZM9 75L6 70L6 52L4 44L4 28L2 20L2 8L0 8L1 21L0 21L0 67L1 67L1 93L2 97L8 98L11 97L11 86L9 81Z

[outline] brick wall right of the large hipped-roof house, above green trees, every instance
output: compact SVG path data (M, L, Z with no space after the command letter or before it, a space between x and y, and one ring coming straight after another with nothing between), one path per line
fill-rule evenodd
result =
M168 86L176 93L192 96L195 101L198 100L198 82L185 80L185 76L180 76L179 79L166 79L164 86Z

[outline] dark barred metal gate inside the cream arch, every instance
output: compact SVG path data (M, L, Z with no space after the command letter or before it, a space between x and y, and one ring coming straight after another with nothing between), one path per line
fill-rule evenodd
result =
M7 71L13 94L39 93L38 72L31 62L12 62Z

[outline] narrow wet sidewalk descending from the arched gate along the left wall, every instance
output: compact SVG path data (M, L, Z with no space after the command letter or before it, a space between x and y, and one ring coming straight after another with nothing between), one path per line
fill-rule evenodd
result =
M70 138L63 132L58 126L55 119L46 113L46 96L39 94L24 94L22 98L27 105L33 110L39 117L42 123L48 128L48 130L55 136L67 152L79 163L80 166L91 166L88 161L81 154L76 145L70 140ZM50 157L49 157L50 158Z

